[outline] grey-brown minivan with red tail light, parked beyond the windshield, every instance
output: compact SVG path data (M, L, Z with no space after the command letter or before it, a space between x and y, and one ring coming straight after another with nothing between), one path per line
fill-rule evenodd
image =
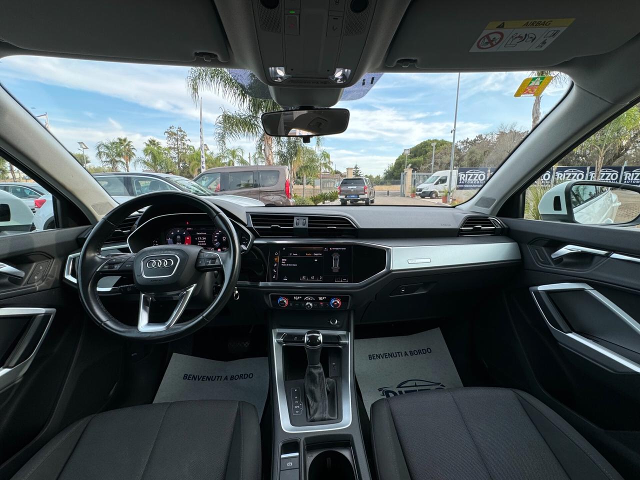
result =
M265 205L295 204L287 166L220 166L205 170L193 181L212 192L248 196Z

